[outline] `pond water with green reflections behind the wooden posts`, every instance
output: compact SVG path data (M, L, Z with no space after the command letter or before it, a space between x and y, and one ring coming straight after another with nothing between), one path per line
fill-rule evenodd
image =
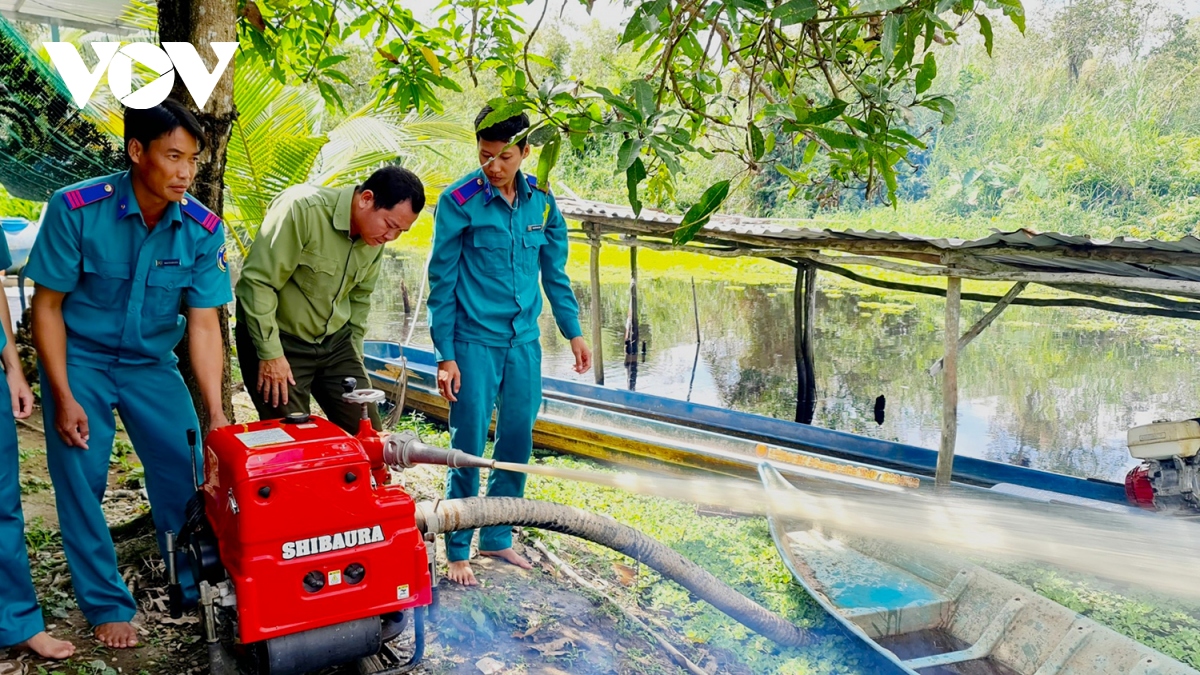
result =
M415 301L424 258L385 258L370 338L402 341L402 287ZM590 340L590 293L576 283ZM701 344L686 281L638 280L640 340L625 364L629 286L601 287L606 386L793 419L792 288L697 283ZM857 293L857 294L856 294ZM817 294L815 423L936 448L941 384L925 369L942 356L938 298L869 288ZM988 310L964 304L962 324ZM414 345L428 345L424 307ZM545 371L574 357L548 310L541 317ZM956 452L1074 476L1121 479L1135 462L1126 430L1192 417L1200 338L1182 321L1140 321L1081 309L1010 307L959 362ZM593 346L595 348L595 346ZM877 401L886 405L876 406ZM886 410L886 414L884 411ZM882 419L882 423L877 422Z

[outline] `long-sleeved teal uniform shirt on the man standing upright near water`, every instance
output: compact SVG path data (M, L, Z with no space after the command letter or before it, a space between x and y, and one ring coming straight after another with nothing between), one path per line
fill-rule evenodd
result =
M511 205L484 169L438 198L428 309L439 362L455 360L455 341L515 347L536 340L542 288L563 336L583 334L565 270L566 221L532 178L517 172L515 180Z

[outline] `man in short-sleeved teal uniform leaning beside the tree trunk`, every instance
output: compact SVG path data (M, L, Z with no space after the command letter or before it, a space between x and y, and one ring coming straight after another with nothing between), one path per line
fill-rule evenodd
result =
M164 556L163 534L184 524L199 455L187 446L199 423L173 353L185 327L208 425L228 424L217 317L233 299L224 229L187 193L203 142L199 123L175 101L127 108L130 169L55 192L26 267L37 283L34 336L62 544L79 609L109 647L137 644L137 604L100 508L113 411L145 466ZM179 569L185 599L194 602L191 571Z

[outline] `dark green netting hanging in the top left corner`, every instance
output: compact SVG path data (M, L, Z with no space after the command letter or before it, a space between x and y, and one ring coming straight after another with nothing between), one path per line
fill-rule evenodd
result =
M120 141L88 119L54 70L0 18L0 184L44 202L72 183L120 171Z

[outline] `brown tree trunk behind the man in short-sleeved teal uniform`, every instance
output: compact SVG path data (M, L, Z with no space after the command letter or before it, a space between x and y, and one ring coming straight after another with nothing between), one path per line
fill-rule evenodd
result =
M191 42L196 46L196 50L200 54L200 58L211 68L216 65L216 55L209 44L212 42L238 41L238 0L158 0L158 40L161 42ZM234 64L230 62L229 67L221 76L216 89L212 90L212 95L209 97L208 104L203 110L197 108L196 101L192 100L191 94L184 86L182 78L175 78L175 88L172 90L172 97L191 108L197 114L200 124L204 125L205 150L200 155L199 172L196 175L196 183L192 185L191 193L217 215L221 215L224 210L226 150L229 145L229 131L233 127L235 115L233 107L233 68ZM221 333L224 336L226 345L229 345L229 311L227 307L221 307L218 311L221 316ZM196 412L200 418L202 432L206 434L208 411L204 407L199 388L196 384L196 375L192 371L186 334L175 348L175 354L179 356L179 372L184 376L184 381L192 393L192 402L196 405ZM222 359L224 368L221 400L226 417L233 422L233 383L230 382L232 364L229 348L223 350ZM203 438L203 434L200 437Z

